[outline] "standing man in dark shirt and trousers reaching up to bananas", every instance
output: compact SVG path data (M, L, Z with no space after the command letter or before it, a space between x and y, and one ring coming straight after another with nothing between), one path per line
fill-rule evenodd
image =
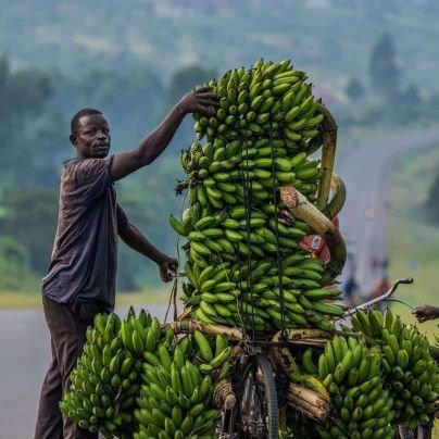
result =
M42 384L36 439L98 437L63 418L59 402L68 389L87 326L96 314L114 309L117 235L158 264L162 280L170 281L177 269L177 261L156 249L128 221L116 202L113 183L151 164L187 114L210 114L211 105L216 104L210 88L191 91L137 148L109 158L111 137L103 114L84 109L73 117L70 139L76 156L64 163L58 229L42 279L52 362Z

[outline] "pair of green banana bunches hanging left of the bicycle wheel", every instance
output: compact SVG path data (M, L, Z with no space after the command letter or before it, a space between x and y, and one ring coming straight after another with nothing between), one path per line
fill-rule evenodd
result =
M60 407L109 438L210 437L220 414L214 385L229 376L230 356L223 335L177 340L143 310L131 308L123 322L98 314Z

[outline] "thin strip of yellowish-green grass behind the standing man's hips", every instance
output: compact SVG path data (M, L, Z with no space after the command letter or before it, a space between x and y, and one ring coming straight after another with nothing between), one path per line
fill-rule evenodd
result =
M149 289L139 292L120 292L116 305L167 304L170 288ZM41 306L41 296L38 292L0 291L0 309L35 309Z

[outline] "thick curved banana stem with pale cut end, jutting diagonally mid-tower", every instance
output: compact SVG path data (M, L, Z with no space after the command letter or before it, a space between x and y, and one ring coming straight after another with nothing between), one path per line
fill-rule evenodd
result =
M329 284L343 269L347 250L344 240L333 222L325 216L304 195L292 186L280 188L280 198L294 217L308 223L328 246L330 259L323 275L323 281Z

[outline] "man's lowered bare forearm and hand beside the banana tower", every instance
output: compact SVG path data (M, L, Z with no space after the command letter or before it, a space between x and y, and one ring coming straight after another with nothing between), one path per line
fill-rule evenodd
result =
M177 260L160 251L136 226L129 222L126 223L120 228L118 236L131 249L143 254L159 265L160 277L163 281L170 281L173 279L172 274L175 274L178 269Z

